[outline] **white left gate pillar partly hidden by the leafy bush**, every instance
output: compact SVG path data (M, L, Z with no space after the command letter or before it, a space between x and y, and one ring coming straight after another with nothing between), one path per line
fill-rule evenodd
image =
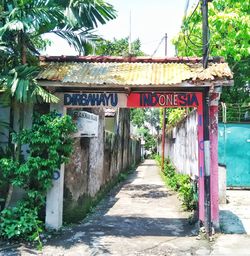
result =
M59 95L56 95L59 96ZM59 97L60 98L60 97ZM60 114L66 114L63 101L51 104L50 110L56 110ZM55 170L52 187L46 197L45 225L49 229L59 229L63 221L63 186L64 186L64 164L59 170Z

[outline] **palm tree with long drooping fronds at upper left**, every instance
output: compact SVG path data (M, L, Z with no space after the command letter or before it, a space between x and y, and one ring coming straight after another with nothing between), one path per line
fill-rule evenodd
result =
M56 101L36 81L39 49L46 33L55 33L84 53L97 37L98 23L115 18L113 6L103 0L3 0L0 3L0 89L25 102L41 96Z

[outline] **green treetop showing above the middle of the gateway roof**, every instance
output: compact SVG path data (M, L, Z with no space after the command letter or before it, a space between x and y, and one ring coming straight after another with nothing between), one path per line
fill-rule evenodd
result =
M141 51L141 42L136 39L131 43L131 54L129 54L129 41L128 37L115 39L113 41L101 40L96 45L97 55L107 56L144 56L145 54Z

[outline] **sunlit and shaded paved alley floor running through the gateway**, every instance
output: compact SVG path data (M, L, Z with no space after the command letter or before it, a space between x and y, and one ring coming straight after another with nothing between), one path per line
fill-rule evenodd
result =
M220 235L216 241L197 239L175 193L165 188L158 167L146 160L130 179L110 193L95 213L47 242L41 255L157 256L250 255L250 238ZM0 255L36 255L17 247Z

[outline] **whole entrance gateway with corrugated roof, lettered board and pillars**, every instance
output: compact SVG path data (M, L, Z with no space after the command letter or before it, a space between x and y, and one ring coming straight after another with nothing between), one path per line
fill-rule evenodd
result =
M218 59L217 59L218 60ZM203 70L198 58L43 57L40 84L60 98L51 109L192 107L197 109L199 220L208 234L219 225L218 100L232 84L226 63ZM63 174L47 196L46 224L62 224ZM58 203L55 203L58 202Z

